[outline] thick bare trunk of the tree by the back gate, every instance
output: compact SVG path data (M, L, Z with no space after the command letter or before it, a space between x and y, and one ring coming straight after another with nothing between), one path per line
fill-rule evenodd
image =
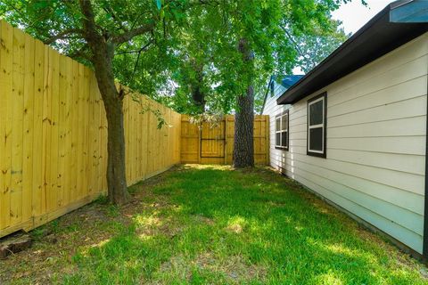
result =
M254 55L245 39L239 42L239 51L243 53L245 66L251 66ZM254 167L254 87L250 82L246 93L236 99L234 166Z

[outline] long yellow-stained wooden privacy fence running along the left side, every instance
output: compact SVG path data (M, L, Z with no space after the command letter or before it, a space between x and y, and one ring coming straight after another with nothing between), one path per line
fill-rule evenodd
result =
M124 100L128 183L180 161L181 115ZM161 110L169 126L142 106ZM94 73L0 21L0 237L106 191L107 123Z

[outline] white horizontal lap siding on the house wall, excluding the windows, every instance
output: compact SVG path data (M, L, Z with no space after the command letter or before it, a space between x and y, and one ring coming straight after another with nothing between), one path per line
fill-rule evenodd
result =
M425 34L292 105L290 151L271 151L273 167L419 253L427 69ZM324 91L327 159L320 159L306 155L306 109ZM267 107L272 118L284 110L275 100ZM272 148L274 140L271 132Z

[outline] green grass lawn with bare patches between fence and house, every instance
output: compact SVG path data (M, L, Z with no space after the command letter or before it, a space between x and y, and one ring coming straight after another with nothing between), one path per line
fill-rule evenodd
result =
M424 265L268 169L182 166L37 229L0 283L423 284ZM3 282L2 282L3 281Z

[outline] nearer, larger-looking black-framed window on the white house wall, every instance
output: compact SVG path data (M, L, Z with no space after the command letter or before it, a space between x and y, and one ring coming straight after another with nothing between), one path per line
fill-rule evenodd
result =
M326 94L308 101L308 155L325 158Z

